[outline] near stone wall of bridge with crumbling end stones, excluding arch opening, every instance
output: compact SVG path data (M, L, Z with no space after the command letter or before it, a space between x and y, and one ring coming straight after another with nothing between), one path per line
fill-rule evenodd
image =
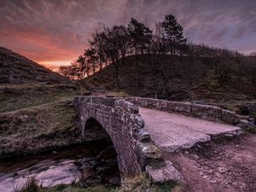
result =
M107 131L118 155L122 178L135 176L143 172L146 166L166 168L160 149L144 129L137 106L123 99L103 96L76 96L73 102L79 113L79 129L83 136L91 135L86 134L84 129L88 119L96 119Z

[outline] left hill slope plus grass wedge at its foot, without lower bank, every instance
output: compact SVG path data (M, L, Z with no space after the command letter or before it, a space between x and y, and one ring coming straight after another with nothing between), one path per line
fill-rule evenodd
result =
M0 113L72 98L83 90L80 84L0 48Z

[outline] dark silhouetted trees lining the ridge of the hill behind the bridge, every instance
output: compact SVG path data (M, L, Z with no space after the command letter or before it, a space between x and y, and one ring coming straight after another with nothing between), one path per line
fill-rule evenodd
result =
M243 56L239 52L188 42L183 37L183 26L174 15L166 15L162 22L155 24L153 30L131 18L127 26L104 27L102 31L94 32L83 55L79 55L78 60L70 66L61 66L59 73L70 79L84 79L112 63L116 89L119 90L119 69L126 64L127 55L135 58L135 87L138 89L140 63L146 62L155 79L154 96L161 98L166 98L167 85L175 78L186 79L192 84L192 79L205 79L211 69L218 83L227 88L234 73L238 80L247 73L242 65L236 67L235 71L230 70L231 58ZM208 61L209 58L214 60ZM255 71L251 73L255 82Z

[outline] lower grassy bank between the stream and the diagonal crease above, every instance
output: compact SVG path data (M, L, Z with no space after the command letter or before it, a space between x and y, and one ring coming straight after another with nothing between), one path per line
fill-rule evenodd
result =
M62 100L2 113L5 117L5 123L0 124L2 155L23 154L82 141L73 123L76 113L70 104L71 100Z

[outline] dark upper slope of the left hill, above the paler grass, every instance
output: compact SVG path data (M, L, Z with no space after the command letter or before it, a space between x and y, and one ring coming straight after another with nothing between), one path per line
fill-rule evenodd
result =
M0 84L72 83L58 73L9 49L0 47Z

